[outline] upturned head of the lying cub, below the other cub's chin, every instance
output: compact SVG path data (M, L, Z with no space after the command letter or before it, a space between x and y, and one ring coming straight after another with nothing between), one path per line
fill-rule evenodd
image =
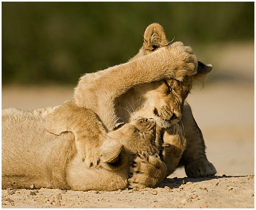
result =
M117 169L126 163L132 164L140 154L158 154L155 138L156 121L153 118L138 117L118 126L117 130L108 134L101 146L102 166Z

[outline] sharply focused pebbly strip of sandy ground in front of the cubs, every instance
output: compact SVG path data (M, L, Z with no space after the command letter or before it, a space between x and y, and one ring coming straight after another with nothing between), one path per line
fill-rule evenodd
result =
M253 208L254 176L165 179L138 190L2 190L2 207L13 208Z

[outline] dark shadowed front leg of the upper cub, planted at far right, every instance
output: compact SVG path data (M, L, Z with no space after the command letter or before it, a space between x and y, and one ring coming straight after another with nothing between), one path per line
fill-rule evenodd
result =
M216 169L207 160L204 138L188 103L184 105L181 121L185 127L187 149L182 156L180 164L185 165L188 177L213 176L216 173Z

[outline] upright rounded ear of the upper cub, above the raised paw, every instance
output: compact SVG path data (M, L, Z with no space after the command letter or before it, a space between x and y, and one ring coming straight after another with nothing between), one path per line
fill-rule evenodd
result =
M168 44L164 29L158 23L150 24L144 33L143 47L149 51L155 51L159 47Z

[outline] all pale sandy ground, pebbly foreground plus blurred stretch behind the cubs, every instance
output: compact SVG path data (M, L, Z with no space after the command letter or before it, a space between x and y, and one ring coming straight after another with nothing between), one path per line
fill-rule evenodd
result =
M205 88L194 88L188 98L216 176L190 179L181 168L154 189L7 189L2 190L2 207L254 208L253 53L253 45L223 47L218 56L226 62L216 62ZM4 86L2 107L56 106L72 94L73 87Z

